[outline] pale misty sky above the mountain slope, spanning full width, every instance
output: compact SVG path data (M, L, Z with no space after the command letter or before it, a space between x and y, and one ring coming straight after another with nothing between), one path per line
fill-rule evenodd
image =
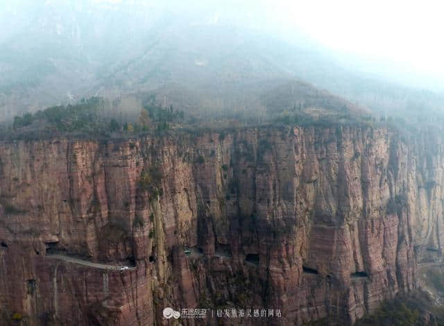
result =
M355 65L367 73L391 75L396 81L411 79L418 87L444 89L444 4L441 1L400 0L40 0L60 3L90 3L119 10L140 6L141 10L164 7L180 15L205 16L207 22L227 20L279 35L292 42L300 34L334 53L344 65ZM22 6L17 3L22 3ZM0 27L5 32L10 15L31 10L27 0L0 0ZM37 2L32 2L33 6ZM8 11L9 10L9 11ZM0 31L0 36L1 36ZM0 37L1 38L1 37ZM333 53L333 52L332 52ZM363 62L361 60L367 60ZM387 77L387 76L385 76Z

